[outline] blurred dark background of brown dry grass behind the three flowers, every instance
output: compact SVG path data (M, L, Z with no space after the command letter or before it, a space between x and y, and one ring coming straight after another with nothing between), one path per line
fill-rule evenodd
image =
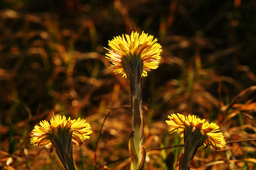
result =
M90 122L91 138L73 147L77 169L128 168L129 81L108 69L103 47L132 31L163 50L142 78L145 169L178 169L172 113L217 123L228 142L199 148L191 169L256 169L254 0L1 0L0 169L64 169L55 151L30 144L53 112Z

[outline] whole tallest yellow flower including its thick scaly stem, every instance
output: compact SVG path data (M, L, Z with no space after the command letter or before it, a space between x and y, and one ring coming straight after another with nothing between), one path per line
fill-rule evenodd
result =
M147 76L147 71L156 69L160 60L161 45L153 40L153 36L132 32L131 36L122 35L114 37L108 45L112 48L106 54L106 58L112 62L111 69L114 72L123 74L128 77L131 88L131 109L133 117L133 131L128 139L128 151L131 155L132 162L129 165L130 170L142 170L145 164L146 151L141 145L144 118L140 108L141 104L141 77Z

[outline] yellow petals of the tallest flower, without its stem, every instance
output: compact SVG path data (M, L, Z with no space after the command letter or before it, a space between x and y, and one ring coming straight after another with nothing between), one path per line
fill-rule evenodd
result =
M125 39L126 37L126 39ZM153 40L153 36L132 32L131 36L125 34L122 37L114 37L112 41L109 41L108 45L113 48L109 50L109 54L106 54L106 58L112 62L111 69L116 69L114 72L122 73L123 77L127 77L128 59L135 65L141 63L142 70L141 76L147 76L147 71L150 69L156 69L160 60L160 52L162 51L161 45L156 43L157 39Z

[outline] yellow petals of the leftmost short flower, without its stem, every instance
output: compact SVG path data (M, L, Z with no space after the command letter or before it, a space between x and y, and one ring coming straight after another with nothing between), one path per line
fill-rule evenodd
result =
M53 115L54 116L54 115ZM52 118L50 120L51 125L48 121L43 120L39 123L39 126L35 126L35 128L32 131L32 138L30 143L33 145L51 145L51 152L54 148L54 145L52 144L50 133L58 135L58 131L61 129L70 129L72 131L72 145L79 145L81 146L83 144L83 141L85 139L89 139L89 134L92 133L92 130L90 129L91 126L89 123L85 123L86 120L78 118L77 120L66 120L66 117L58 115L54 119Z

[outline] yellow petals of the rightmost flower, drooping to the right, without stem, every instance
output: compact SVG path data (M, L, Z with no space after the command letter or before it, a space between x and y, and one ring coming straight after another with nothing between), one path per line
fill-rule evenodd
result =
M191 127L192 132L195 130L200 130L202 135L206 135L207 139L204 144L206 147L211 144L215 149L216 147L224 147L226 146L226 142L224 136L219 131L219 126L215 123L205 122L205 119L201 120L200 118L196 118L195 115L184 116L179 113L171 114L168 116L170 121L166 121L166 123L171 126L169 128L170 133L178 132L182 133L181 137L184 136L184 129L186 127Z

